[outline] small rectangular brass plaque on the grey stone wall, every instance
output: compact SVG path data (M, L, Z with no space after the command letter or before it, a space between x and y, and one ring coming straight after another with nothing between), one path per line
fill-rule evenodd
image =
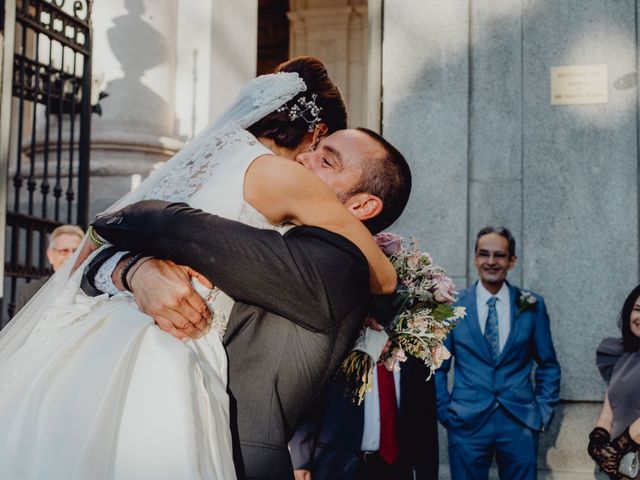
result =
M551 67L551 105L607 103L607 65Z

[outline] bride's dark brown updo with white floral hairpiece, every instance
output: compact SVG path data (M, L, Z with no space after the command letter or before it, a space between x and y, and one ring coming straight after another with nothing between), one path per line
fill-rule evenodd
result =
M274 72L296 72L307 85L307 90L293 97L288 104L295 105L299 98L310 100L317 95L316 105L320 107L320 122L327 125L331 134L347 128L347 107L338 87L331 81L327 68L315 57L296 57L276 67ZM309 132L309 123L302 117L289 118L288 111L275 111L258 120L247 130L255 137L266 137L276 145L295 148Z

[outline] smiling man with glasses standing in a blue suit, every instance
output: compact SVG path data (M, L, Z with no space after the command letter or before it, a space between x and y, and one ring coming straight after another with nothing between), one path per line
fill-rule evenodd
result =
M478 233L480 281L460 293L458 305L467 316L446 341L455 359L451 393L451 360L436 371L438 419L448 431L453 480L486 480L494 456L501 479L534 480L539 432L558 403L560 365L547 309L541 296L506 281L516 260L509 230Z

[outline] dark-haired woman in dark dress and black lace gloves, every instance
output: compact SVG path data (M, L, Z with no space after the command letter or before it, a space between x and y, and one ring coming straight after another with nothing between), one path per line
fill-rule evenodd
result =
M589 455L611 478L620 460L640 445L640 285L627 296L620 314L622 338L605 338L597 365L607 391L596 427L589 434ZM613 439L613 440L612 440Z

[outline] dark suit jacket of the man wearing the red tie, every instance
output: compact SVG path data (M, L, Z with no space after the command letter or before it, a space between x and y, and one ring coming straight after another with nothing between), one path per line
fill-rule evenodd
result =
M438 425L433 378L421 361L409 357L400 370L400 462L415 470L417 480L438 478ZM313 480L351 480L358 464L364 429L364 403L354 404L344 387L333 383L323 413L305 422L291 440L296 469Z

